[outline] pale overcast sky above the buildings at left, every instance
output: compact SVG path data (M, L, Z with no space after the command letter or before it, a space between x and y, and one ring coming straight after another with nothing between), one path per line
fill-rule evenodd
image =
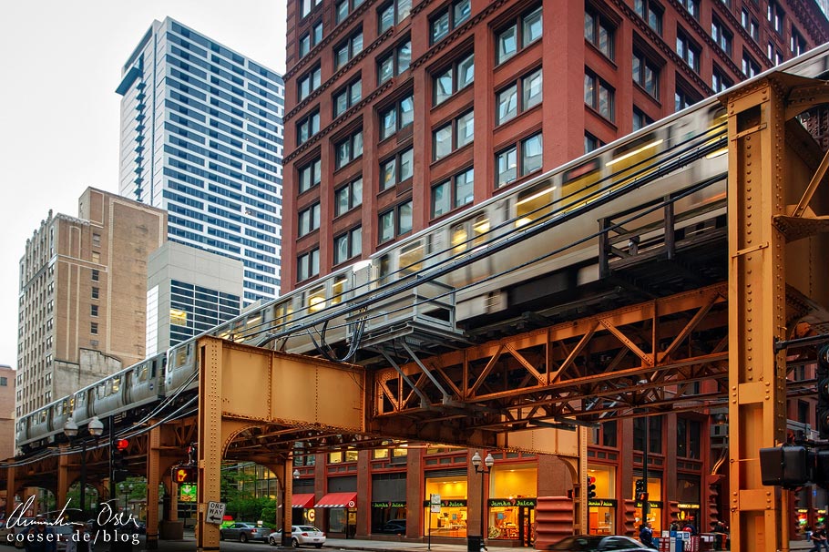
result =
M0 364L17 368L26 239L87 187L118 192L123 66L170 16L284 73L288 0L17 0L0 4Z

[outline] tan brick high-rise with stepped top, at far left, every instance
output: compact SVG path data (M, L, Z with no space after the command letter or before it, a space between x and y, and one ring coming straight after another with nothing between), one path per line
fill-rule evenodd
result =
M20 260L17 416L145 356L147 257L167 213L92 188L77 213L50 210Z

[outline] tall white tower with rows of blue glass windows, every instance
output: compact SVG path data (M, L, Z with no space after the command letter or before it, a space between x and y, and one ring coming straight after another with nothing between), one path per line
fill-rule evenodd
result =
M245 304L280 290L284 86L170 19L122 68L119 193L169 212L169 240L244 263Z

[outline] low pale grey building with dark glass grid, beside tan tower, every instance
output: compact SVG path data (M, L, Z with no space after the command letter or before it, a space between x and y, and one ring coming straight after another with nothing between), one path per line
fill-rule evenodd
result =
M168 241L148 259L147 354L241 312L241 261Z

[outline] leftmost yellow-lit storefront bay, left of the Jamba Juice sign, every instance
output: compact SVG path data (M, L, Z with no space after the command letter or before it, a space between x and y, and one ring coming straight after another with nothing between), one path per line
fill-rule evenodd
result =
M424 536L466 538L466 469L424 474ZM429 497L440 496L440 513L430 511Z

